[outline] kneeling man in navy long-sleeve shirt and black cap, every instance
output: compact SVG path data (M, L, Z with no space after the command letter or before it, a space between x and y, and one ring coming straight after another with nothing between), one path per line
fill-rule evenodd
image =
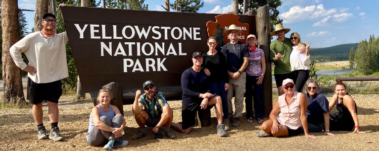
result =
M193 66L186 69L181 74L182 109L181 119L182 125L172 123L171 126L178 132L188 134L191 132L191 126L195 125L194 117L199 110L207 109L215 106L217 117L217 134L226 137L222 124L222 102L221 97L210 93L210 80L201 67L203 57L201 52L195 52L192 55Z

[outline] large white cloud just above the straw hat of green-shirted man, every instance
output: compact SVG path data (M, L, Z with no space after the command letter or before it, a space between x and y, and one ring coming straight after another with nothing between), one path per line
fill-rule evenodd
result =
M322 4L307 7L294 6L288 12L279 15L283 23L297 23L307 19L317 19L336 14L336 9L325 10Z

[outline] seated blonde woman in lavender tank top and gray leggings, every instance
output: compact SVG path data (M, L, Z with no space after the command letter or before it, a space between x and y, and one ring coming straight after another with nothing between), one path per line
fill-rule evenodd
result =
M98 105L92 108L89 115L88 133L86 136L88 144L98 146L106 144L103 148L112 149L115 145L125 146L126 140L119 140L125 128L125 119L120 110L110 105L111 93L102 89L98 94Z

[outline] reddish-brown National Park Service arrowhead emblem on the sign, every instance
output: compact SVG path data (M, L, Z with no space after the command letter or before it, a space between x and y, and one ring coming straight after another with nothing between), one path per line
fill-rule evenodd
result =
M207 32L209 36L215 36L217 47L219 49L223 45L230 42L227 37L227 33L224 33L225 30L231 25L234 24L238 29L242 30L242 33L238 37L238 41L246 43L246 37L249 35L249 24L241 23L239 21L240 17L234 14L221 14L217 15L216 22L209 21L207 22Z

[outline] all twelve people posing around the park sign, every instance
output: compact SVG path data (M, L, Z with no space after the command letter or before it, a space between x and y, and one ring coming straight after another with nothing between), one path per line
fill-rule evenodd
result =
M42 102L46 100L52 126L49 138L62 141L64 139L58 127L58 100L62 95L60 80L68 77L65 49L68 37L66 32L54 32L57 20L53 14L43 15L41 24L41 31L21 39L10 48L10 53L15 64L28 72L27 99L33 104L32 114L37 125L37 138L48 138L42 122ZM291 136L303 130L307 137L315 138L308 132L325 130L325 134L333 136L330 130L351 130L353 127L354 132L360 132L357 107L352 97L346 93L345 84L337 82L336 94L328 102L321 94L317 82L307 81L310 43L301 43L300 35L296 32L291 34L291 38L286 38L285 34L289 31L290 29L278 24L271 33L272 36L278 37L270 45L270 59L275 64L274 76L279 98L269 120L263 122L265 54L257 47L255 35L249 35L244 44L238 39L242 31L235 25L230 25L224 31L230 42L218 51L216 37L209 37L209 50L205 53L193 53L192 67L182 73L181 123L172 122L173 111L152 81L143 84L145 93L136 91L132 113L139 130L132 138L145 137L146 126L153 127L155 138L163 137L160 131L170 139L175 138L171 127L188 134L196 123L196 113L213 106L218 123L217 134L222 137L228 136L226 131L231 130L230 124L233 127L239 127L241 124L244 96L248 123L254 121L254 98L255 120L259 124L263 123L264 130L258 133L259 137ZM27 56L28 64L23 61L21 53ZM300 93L301 90L303 93ZM97 101L98 105L92 108L89 115L86 135L88 144L105 144L104 149L107 150L116 145L127 145L128 141L119 139L124 135L125 118L116 106L110 104L111 92L106 89L100 90ZM339 112L329 116L334 106ZM277 114L279 111L280 114Z

